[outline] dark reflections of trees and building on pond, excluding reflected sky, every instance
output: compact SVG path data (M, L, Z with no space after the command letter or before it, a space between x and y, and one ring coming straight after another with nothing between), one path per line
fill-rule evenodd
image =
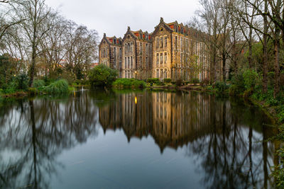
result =
M80 91L6 102L0 188L49 188L65 167L58 156L97 137L99 125L104 133L123 130L128 142L151 136L162 155L185 149L201 173L200 188L270 188L269 167L278 159L274 143L266 142L273 130L263 123L270 121L260 110L234 99L181 91Z

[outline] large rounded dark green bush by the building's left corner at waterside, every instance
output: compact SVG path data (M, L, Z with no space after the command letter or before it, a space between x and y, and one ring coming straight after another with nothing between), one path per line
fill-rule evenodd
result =
M94 67L94 69L89 71L88 76L92 86L111 86L117 75L118 73L116 70L103 64L99 64L99 66Z

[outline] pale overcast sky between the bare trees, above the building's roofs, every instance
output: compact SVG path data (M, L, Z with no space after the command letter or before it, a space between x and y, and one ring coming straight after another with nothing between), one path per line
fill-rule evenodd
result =
M197 10L198 0L45 0L65 18L97 30L99 40L124 37L131 30L153 32L160 17L166 23L187 23Z

